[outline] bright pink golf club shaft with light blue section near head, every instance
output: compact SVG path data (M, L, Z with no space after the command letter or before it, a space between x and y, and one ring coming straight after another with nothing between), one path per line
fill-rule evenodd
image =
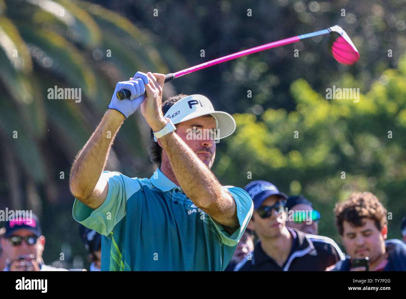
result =
M235 58L242 57L242 56L245 56L245 55L253 54L253 53L256 53L256 52L263 51L263 50L268 50L268 49L271 49L271 48L276 48L276 47L279 47L279 46L284 46L284 45L287 45L287 44L293 44L293 43L296 43L297 41L300 41L301 39L306 39L306 38L309 38L309 37L315 37L315 36L318 36L318 35L324 35L324 34L328 34L328 33L330 33L330 31L328 29L324 29L324 30L315 31L315 32L312 32L312 33L307 33L307 34L302 34L302 35L298 35L298 36L294 36L294 37L289 37L287 39L281 39L279 41L273 41L272 43L264 44L264 45L257 46L257 47L254 47L254 48L250 48L250 49L247 49L247 50L242 50L240 52L236 52L236 53L229 54L229 55L226 55L226 56L223 56L223 57L220 57L220 58L216 58L216 59L213 59L213 60L198 64L198 65L194 65L194 66L192 66L190 68L186 68L184 70L180 70L180 71L175 72L175 73L166 74L165 75L165 82L172 81L173 79L178 78L180 76L190 74L192 72L196 72L197 70L201 70L203 68L208 68L209 66L216 65L218 63L222 63L222 62L225 62L225 61L229 61L231 59L235 59ZM130 94L131 93L130 93L129 90L122 89L122 90L117 92L117 98L119 98L119 100L123 100L124 98L129 98Z

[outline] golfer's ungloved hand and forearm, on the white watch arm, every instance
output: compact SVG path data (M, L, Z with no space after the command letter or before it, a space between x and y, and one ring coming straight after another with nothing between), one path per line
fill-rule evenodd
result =
M147 75L149 77L149 84L145 85L147 99L141 105L141 111L151 129L158 132L167 124L162 114L162 87L165 75L151 73ZM235 231L240 226L235 201L229 193L222 190L209 168L175 132L166 133L159 140L185 194L197 207L227 227L228 232Z

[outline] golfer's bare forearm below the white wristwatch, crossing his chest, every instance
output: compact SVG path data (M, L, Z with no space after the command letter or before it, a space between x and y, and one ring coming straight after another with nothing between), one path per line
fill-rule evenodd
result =
M185 194L222 225L237 228L239 223L235 201L221 189L209 168L176 133L164 135L160 140Z

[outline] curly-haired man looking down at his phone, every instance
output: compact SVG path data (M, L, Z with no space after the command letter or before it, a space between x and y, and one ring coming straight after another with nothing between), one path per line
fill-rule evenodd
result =
M365 266L353 268L352 264L367 257L369 271L406 271L406 245L386 240L387 210L374 194L352 193L347 201L336 204L334 214L347 256L327 271L366 271Z

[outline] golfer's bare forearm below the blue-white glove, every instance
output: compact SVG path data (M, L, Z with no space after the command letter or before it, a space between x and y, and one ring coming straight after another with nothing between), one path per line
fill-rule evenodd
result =
M88 204L86 199L95 190L106 166L114 137L124 119L125 117L119 111L108 109L99 126L73 162L69 187L72 194L86 204Z

